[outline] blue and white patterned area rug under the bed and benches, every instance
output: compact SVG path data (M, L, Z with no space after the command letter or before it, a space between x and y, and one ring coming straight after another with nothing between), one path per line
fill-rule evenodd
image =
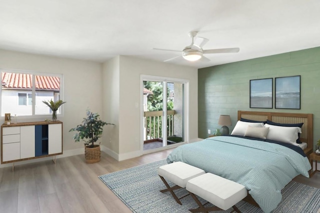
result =
M161 193L165 188L157 175L157 168L166 164L159 160L144 165L116 171L99 176L103 183L122 200L133 212L189 212L188 209L196 208L197 204L186 196L181 199L182 205L175 202L169 192ZM172 183L171 183L172 185ZM175 190L178 197L187 194L184 188ZM291 181L282 189L282 200L272 212L317 212L320 208L320 189ZM202 203L203 199L200 199ZM236 204L241 212L260 213L260 208L247 202L240 201ZM215 212L231 212L226 211Z

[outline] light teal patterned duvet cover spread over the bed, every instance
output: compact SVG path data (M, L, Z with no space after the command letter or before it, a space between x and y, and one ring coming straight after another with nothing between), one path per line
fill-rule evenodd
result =
M182 161L246 187L264 212L281 201L293 177L308 177L307 157L285 146L231 136L215 136L175 148L167 162Z

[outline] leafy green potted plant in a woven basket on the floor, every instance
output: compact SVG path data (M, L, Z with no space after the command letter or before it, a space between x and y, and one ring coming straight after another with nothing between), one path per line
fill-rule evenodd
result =
M114 125L104 122L100 119L98 113L93 113L87 109L86 117L83 118L82 122L69 130L76 131L72 137L75 142L84 141L84 156L87 163L100 161L100 145L94 143L102 136L103 126L108 124Z

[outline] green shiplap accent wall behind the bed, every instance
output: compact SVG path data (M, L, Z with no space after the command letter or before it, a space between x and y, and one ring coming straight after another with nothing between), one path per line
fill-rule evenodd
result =
M292 75L301 75L301 109L275 109L274 77ZM273 108L250 108L249 80L269 77L273 78ZM206 138L207 129L212 133L220 128L220 114L230 115L231 133L237 110L313 113L315 143L320 139L320 47L198 69L198 136Z

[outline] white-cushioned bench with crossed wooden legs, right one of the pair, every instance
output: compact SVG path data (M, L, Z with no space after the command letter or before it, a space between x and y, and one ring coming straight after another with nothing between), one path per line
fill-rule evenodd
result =
M230 207L233 207L233 211L240 212L235 204L247 195L247 190L243 185L212 173L205 173L188 180L186 190L199 205L198 208L189 209L191 212L226 210ZM206 203L201 204L194 194L215 206L204 207Z

